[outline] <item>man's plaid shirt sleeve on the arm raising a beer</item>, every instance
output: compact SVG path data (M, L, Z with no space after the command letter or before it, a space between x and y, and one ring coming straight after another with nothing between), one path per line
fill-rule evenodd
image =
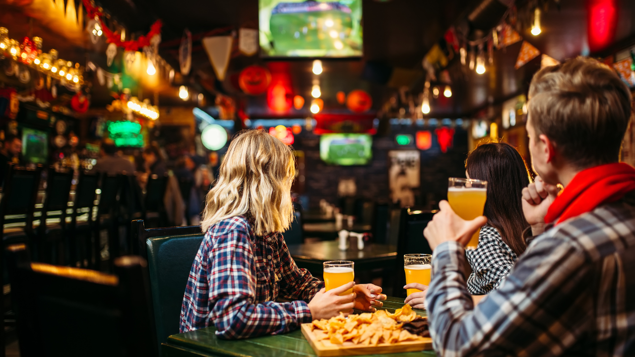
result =
M528 248L498 290L476 307L465 288L464 250L439 244L427 290L430 331L441 356L558 355L592 322L582 306L591 264L563 241L542 237Z

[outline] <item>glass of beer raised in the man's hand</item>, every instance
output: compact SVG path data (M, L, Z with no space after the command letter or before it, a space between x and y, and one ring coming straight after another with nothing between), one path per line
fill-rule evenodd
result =
M448 202L450 202L452 210L462 219L472 220L483 215L486 199L487 181L457 177L448 179ZM472 235L465 249L476 249L478 234L479 231L476 231Z

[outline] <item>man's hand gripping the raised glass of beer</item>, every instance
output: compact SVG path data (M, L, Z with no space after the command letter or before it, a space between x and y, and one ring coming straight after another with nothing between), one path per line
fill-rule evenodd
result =
M458 241L465 246L470 241L472 234L480 227L485 226L486 223L485 216L464 220L458 217L457 213L454 213L448 201L441 201L439 202L439 212L432 217L424 229L424 236L432 250L445 241Z

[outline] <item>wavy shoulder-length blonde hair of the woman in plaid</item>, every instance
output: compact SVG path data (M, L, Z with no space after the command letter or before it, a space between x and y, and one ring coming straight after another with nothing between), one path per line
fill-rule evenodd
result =
M291 148L262 130L244 130L234 137L216 185L206 196L201 229L245 215L255 221L255 234L284 232L293 219L291 183L295 163Z

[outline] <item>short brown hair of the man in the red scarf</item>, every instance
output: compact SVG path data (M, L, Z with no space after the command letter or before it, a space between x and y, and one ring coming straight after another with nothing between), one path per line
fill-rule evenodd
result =
M546 135L572 165L614 163L631 119L631 91L607 65L578 57L533 76L528 112L536 135Z

